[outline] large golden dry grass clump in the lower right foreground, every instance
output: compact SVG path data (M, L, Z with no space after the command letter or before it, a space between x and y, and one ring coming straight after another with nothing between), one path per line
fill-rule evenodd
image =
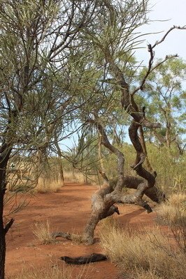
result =
M153 279L186 278L185 254L181 250L176 252L158 228L141 233L106 223L101 229L101 246L122 271L132 270L138 274L146 271L153 274Z

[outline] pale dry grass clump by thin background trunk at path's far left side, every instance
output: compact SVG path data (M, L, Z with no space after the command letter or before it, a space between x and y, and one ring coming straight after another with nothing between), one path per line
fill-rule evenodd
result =
M54 181L50 179L38 179L38 184L34 190L36 193L57 193L59 192L60 188L62 188L62 182L61 181Z

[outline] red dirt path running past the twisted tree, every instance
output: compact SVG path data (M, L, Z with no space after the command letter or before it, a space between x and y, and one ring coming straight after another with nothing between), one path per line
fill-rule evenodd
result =
M96 186L80 183L65 183L59 193L37 194L29 197L29 205L16 213L15 223L8 232L6 254L6 278L33 266L54 266L64 268L64 262L59 260L62 256L78 257L90 255L93 252L103 252L99 242L92 246L76 245L65 239L57 244L41 245L33 234L34 223L49 220L53 231L81 232L89 217L90 198L97 190ZM152 226L155 213L147 214L138 206L119 206L120 216L115 216L123 225L130 224ZM116 215L116 214L115 214ZM99 225L97 226L99 229ZM96 236L98 236L96 229ZM122 278L117 267L109 261L88 264L85 267L75 266L74 273L85 269L86 279L119 279ZM43 278L44 279L44 278Z

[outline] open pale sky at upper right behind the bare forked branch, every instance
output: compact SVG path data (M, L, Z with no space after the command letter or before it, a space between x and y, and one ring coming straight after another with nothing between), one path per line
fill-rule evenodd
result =
M138 60L143 60L144 63L148 62L147 45L149 43L153 45L156 40L160 40L173 25L180 27L186 25L186 0L150 0L149 3L151 11L148 17L153 22L141 27L140 31L142 33L163 32L144 37L145 49L136 51ZM162 20L166 21L162 22ZM157 58L164 58L166 54L178 54L186 61L186 30L171 31L164 42L155 47Z

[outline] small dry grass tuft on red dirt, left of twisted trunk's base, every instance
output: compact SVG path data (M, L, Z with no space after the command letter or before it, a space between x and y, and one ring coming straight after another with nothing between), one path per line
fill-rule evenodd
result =
M50 223L49 221L38 222L34 224L33 229L34 235L42 244L55 243L55 238L51 235Z

